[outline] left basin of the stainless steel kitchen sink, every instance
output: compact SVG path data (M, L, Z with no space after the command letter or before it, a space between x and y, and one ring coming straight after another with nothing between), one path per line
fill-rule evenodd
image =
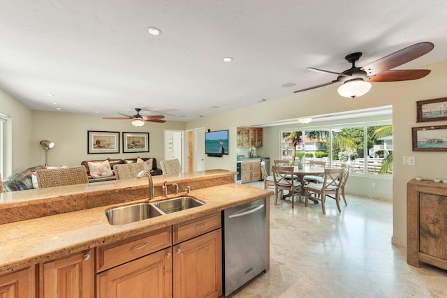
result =
M161 216L163 213L148 202L116 207L105 211L110 225L125 225L143 219Z

